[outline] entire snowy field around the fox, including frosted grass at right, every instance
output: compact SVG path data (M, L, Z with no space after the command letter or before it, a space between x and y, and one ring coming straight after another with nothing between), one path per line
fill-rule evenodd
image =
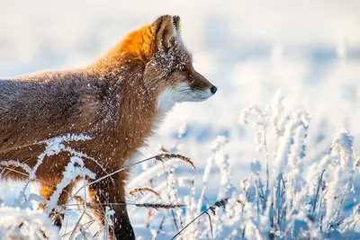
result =
M206 102L176 105L144 149L142 158L159 154L160 145L188 156L197 172L173 160L166 171L153 161L134 168L129 191L150 187L162 200L150 192L129 202L186 205L174 211L129 206L136 235L170 239L176 227L230 198L215 215L209 210L212 225L204 215L183 236L356 239L359 10L358 1L1 0L0 76L85 66L127 32L158 15L178 14L195 69L219 91ZM23 185L0 182L0 203L18 206ZM272 206L263 203L266 196ZM0 233L7 229L4 216L25 214L4 206ZM78 218L75 210L68 215L62 239ZM85 228L94 234L93 227Z

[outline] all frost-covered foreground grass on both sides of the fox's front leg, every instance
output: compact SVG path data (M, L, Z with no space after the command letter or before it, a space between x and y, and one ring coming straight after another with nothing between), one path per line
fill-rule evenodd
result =
M256 129L257 148L249 166L248 175L240 182L230 181L229 156L225 152L227 138L219 136L212 142L207 164L195 179L193 173L178 176L178 164L193 162L179 156L185 127L179 129L178 141L171 148L174 155L166 154L159 147L159 155L138 161L142 171L128 183L128 209L131 216L142 211L143 226L136 231L139 239L356 239L360 233L356 226L360 220L360 202L354 179L360 175L360 158L353 148L354 138L347 130L340 130L332 144L317 157L308 159L309 115L305 111L284 111L283 96L277 93L272 104L262 109L256 105L245 108L239 124L252 122ZM251 128L247 126L247 128ZM103 239L92 217L91 205L83 189L95 182L94 173L85 169L82 158L89 158L64 145L64 142L86 140L86 136L50 138L45 152L39 157L67 151L71 154L64 171L64 180L49 201L36 192L25 194L25 189L36 180L36 167L23 166L29 173L29 182L24 183L13 206L2 200L0 208L0 235L40 239ZM316 149L311 149L316 151ZM0 162L4 163L4 162ZM100 163L99 163L100 164ZM10 167L7 165L6 167ZM211 177L219 175L219 182ZM59 191L76 177L86 177L72 201L67 206L57 206ZM211 188L217 188L216 196ZM214 186L214 184L216 186ZM47 204L42 212L38 204ZM53 227L48 214L51 209L64 212L64 226ZM112 210L107 209L105 227L112 221ZM135 227L135 230L139 229ZM357 228L358 229L358 228ZM106 231L105 231L106 233Z

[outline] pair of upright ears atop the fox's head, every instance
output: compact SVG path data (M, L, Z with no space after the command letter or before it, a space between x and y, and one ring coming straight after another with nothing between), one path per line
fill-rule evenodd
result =
M157 50L167 51L174 41L176 31L180 30L180 18L178 16L163 15L157 18L154 23L157 25Z

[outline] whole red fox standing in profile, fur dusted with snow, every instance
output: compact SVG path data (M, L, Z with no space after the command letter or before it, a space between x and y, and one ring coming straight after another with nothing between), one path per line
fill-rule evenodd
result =
M26 179L21 167L7 168L6 161L33 167L44 146L23 146L68 133L91 137L71 147L102 165L84 160L96 178L106 175L103 169L116 171L146 145L175 102L201 102L216 93L192 62L180 18L163 15L130 32L88 67L0 80L0 177ZM68 159L48 156L40 164L36 176L43 198L49 200L56 190ZM114 182L105 178L88 187L94 203L114 210L110 234L115 239L135 239L126 206L112 205L125 202L128 175L123 171L112 176ZM62 191L58 204L67 202L74 184ZM103 211L96 217L103 223Z

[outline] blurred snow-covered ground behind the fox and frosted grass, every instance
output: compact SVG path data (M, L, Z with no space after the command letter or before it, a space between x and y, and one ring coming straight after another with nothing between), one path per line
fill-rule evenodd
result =
M194 199L199 200L202 173L208 158L214 154L212 144L218 136L226 138L220 152L229 156L230 185L243 189L242 181L248 178L255 159L262 163L260 174L265 176L264 154L257 152L258 144L254 140L257 128L251 124L240 125L238 120L248 104L266 109L278 89L284 95L286 113L301 108L311 117L304 142L303 173L311 172L311 164L320 162L328 153L332 139L341 129L347 129L354 136L354 149L360 149L359 9L360 2L356 0L1 0L0 76L84 66L127 32L154 21L158 15L178 14L184 42L194 54L195 68L217 85L219 91L207 102L175 106L157 135L149 141L144 156L157 154L159 144L171 149L178 141L179 129L185 129L176 153L191 157L198 172L193 173L186 164L179 164L175 174L194 178ZM278 160L274 156L277 146L273 135L270 131L271 165ZM218 145L219 141L218 138ZM135 168L134 177L151 164ZM212 204L226 192L220 190L224 181L221 170L213 166L211 171L204 195ZM356 173L354 183L359 197L358 169ZM165 176L158 178L166 181ZM276 175L272 179L275 180ZM131 186L139 186L135 183ZM148 185L148 180L140 185ZM21 186L0 182L0 198L6 205L18 197ZM179 188L177 194L185 196L188 192L189 188ZM345 213L351 209L348 207ZM137 236L144 236L143 239L151 236L150 229L157 232L164 216L167 216L164 225L171 234L176 232L171 227L171 213L165 210L158 210L148 228L144 220L148 218L147 209L129 207L129 211L135 232ZM214 227L218 225L215 223ZM358 226L356 229L360 231ZM215 233L219 231L214 229ZM157 239L168 239L171 234L159 234Z

